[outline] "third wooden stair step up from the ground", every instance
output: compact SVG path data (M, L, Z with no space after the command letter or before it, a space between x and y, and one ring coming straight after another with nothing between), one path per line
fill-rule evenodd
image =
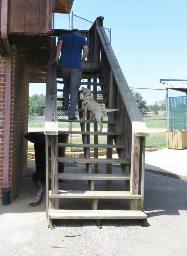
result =
M49 174L51 179L51 173ZM130 174L58 173L59 180L129 181Z

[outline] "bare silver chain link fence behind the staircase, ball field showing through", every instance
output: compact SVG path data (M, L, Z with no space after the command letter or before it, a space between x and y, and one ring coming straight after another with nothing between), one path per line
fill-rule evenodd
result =
M69 29L70 15L55 14L55 29ZM82 19L77 15L72 15L72 26L79 30L89 30L93 22ZM110 29L105 28L110 39ZM60 79L59 79L60 80ZM58 89L63 89L63 84L57 84ZM100 87L98 87L99 90ZM46 84L30 84L29 91L29 132L44 131L45 118L45 90ZM93 90L93 88L91 88ZM163 148L165 147L165 130L166 130L166 101L164 89L147 89L147 88L131 88L137 106L140 110L143 120L145 121L150 136L146 138L146 148ZM92 95L93 96L93 95ZM57 92L57 98L63 98L62 92ZM97 94L97 100L103 100L102 94ZM102 104L102 103L101 103ZM104 106L104 104L103 104ZM62 107L62 102L58 101L58 108ZM79 113L76 113L79 118ZM68 119L68 111L59 110L59 119ZM103 119L107 120L107 113ZM62 131L80 131L79 123L58 122L58 129ZM94 125L90 124L90 131L94 130ZM103 131L107 131L107 124L104 124ZM82 143L81 135L70 136L69 142ZM90 138L93 143L94 138ZM106 136L98 135L98 143L105 144ZM28 143L28 149L34 149L34 145ZM77 150L74 148L74 150Z

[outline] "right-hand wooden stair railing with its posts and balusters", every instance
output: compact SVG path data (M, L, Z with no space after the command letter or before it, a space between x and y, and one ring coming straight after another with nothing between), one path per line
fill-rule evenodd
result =
M140 200L130 200L130 209L142 210L145 137L149 136L149 132L102 26L103 19L103 17L98 17L89 30L88 59L100 61L99 73L103 77L100 82L107 84L107 86L101 87L101 90L109 92L109 104L106 104L106 107L120 109L119 113L109 113L108 120L118 121L117 127L114 129L121 132L122 135L120 139L114 137L114 142L125 145L124 155L121 157L130 160L130 192L132 195L142 196ZM105 97L104 94L103 97Z

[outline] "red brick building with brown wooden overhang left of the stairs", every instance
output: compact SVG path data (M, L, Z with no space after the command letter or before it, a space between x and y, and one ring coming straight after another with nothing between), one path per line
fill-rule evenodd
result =
M27 169L29 82L46 82L54 12L73 0L0 0L0 199L8 204ZM4 193L2 193L4 191Z

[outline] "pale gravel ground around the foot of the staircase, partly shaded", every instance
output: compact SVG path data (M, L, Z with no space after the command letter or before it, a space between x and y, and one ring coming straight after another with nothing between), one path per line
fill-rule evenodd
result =
M118 172L119 167L115 167L115 170ZM39 205L33 208L27 206L36 194L36 186L30 177L33 171L34 161L29 160L27 177L23 179L18 191L19 197L8 206L0 205L1 256L186 255L186 181L145 174L144 209L148 215L147 228L138 220L104 220L100 229L92 220L65 220L55 221L57 227L50 230L45 217L45 197ZM78 187L85 184L71 185ZM118 207L118 204L123 208L128 206L126 202L116 202L112 207ZM79 236L65 237L67 235Z

